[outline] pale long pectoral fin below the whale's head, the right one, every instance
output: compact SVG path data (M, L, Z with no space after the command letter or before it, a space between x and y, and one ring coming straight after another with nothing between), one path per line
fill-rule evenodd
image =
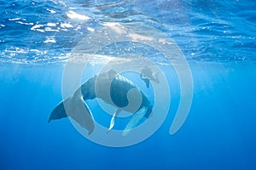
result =
M126 125L122 135L126 136L128 133L130 133L132 128L137 127L137 125L141 121L143 121L143 117L145 116L146 112L146 109L143 107L142 109L134 113L134 115L131 117L130 122L128 122L128 124Z

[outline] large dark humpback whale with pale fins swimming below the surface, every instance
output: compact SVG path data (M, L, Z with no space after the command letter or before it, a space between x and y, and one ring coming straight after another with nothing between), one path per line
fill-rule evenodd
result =
M106 87L110 87L110 89ZM137 94L135 93L131 96L133 99L129 99L129 93L133 89L137 90ZM142 122L143 118L148 118L152 112L153 105L146 95L129 79L117 74L116 71L110 70L91 77L73 95L61 101L51 112L48 122L70 116L81 127L87 129L90 134L94 131L95 125L93 114L85 101L96 98L102 99L104 102L117 108L111 118L108 132L114 126L115 116L118 116L121 111L133 113L131 121L125 127L123 135L128 133L133 127L137 127L138 123ZM141 99L137 107L127 107L129 102L136 102L137 98ZM136 109L136 111L132 111L132 109Z

